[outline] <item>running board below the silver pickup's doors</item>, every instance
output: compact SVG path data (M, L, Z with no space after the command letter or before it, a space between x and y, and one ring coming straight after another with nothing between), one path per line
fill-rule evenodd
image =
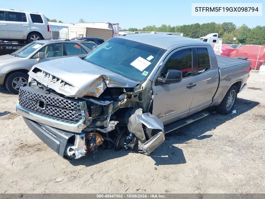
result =
M172 124L168 124L165 126L165 134L171 132L172 130L176 130L182 126L185 126L189 123L192 123L198 119L204 118L207 115L210 115L208 111L201 111L199 113L195 113L187 118L178 120L177 122L174 122Z

